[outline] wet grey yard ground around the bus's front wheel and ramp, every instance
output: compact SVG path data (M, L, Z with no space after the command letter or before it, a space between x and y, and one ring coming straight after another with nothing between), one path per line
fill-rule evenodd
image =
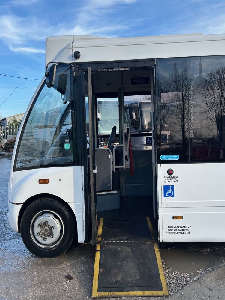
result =
M0 299L91 299L95 247L79 245L57 258L41 259L32 255L20 234L10 229L7 222L10 164L11 157L0 156ZM223 277L217 268L225 263L225 243L161 244L160 247L170 294L183 290L184 286L184 291L187 290L187 296L181 290L168 299L201 299L201 290L198 298L188 296L191 285L202 288L204 295L211 295L211 299L219 299L217 295L223 287L216 286L215 278L218 270L219 282L224 286L225 274ZM205 287L205 281L202 287L200 280L195 285L195 280L204 278L205 274L214 280L217 294L209 290L210 285ZM73 279L68 280L66 275Z

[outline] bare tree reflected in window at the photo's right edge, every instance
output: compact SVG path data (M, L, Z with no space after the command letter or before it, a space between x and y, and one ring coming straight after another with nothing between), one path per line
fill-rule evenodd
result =
M212 124L208 129L213 132L213 128L216 126L216 134L219 137L220 119L225 115L225 67L222 66L206 73L199 84L199 89L205 103L203 113Z

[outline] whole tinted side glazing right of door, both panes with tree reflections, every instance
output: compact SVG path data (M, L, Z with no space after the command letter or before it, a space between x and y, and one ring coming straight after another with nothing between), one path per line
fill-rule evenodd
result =
M225 56L159 59L156 101L158 161L224 159Z

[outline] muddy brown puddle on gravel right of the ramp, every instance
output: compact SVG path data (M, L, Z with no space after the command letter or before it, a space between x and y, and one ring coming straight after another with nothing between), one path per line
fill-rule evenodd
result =
M167 267L172 269L171 272L193 273L198 274L199 269L205 270L209 268L212 261L216 259L213 254L203 254L198 251L187 249L160 249L162 260L167 264Z

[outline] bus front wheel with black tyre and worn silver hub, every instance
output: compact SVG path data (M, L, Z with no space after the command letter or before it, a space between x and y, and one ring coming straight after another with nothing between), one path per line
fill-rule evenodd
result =
M63 203L54 198L35 200L22 215L22 240L27 249L39 257L56 257L73 242L73 216Z

